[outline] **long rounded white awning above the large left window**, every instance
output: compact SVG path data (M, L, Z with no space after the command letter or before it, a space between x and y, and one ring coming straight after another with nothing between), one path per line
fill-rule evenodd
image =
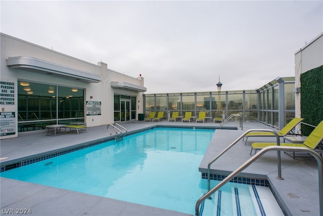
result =
M66 67L52 62L47 62L33 57L10 57L6 61L7 66L14 70L72 79L86 83L97 83L101 81L100 75L88 73L86 71Z

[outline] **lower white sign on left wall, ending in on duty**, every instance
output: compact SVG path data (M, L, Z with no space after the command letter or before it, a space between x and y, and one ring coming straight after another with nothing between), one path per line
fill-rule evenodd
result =
M15 112L0 112L0 136L16 134Z

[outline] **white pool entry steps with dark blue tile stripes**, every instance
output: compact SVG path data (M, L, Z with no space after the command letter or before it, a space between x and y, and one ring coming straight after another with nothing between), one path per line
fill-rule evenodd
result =
M202 215L284 215L268 187L248 185L217 191L205 200Z

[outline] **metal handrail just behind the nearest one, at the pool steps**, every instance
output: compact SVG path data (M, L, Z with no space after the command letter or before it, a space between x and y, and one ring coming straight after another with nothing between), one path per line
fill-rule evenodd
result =
M238 139L236 139L233 143L231 143L225 150L223 150L218 156L214 157L210 162L207 164L207 191L210 190L210 167L213 162L218 160L219 157L221 157L224 153L226 153L231 147L233 147L236 143L238 143L241 139L243 139L248 133L250 132L270 132L273 133L277 140L277 145L280 146L280 138L277 132L273 131L272 129L249 129L245 133L243 133ZM282 172L281 172L281 152L277 151L277 157L278 157L278 179L282 178Z

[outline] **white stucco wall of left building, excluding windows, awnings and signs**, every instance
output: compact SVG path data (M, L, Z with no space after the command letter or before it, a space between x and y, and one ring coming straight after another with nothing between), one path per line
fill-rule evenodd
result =
M77 80L64 79L54 77L51 75L36 74L24 71L10 69L7 66L6 60L10 57L32 57L46 62L55 63L64 67L69 67L84 71L90 74L96 74L101 77L98 83L86 83ZM16 113L16 134L1 137L1 139L17 137L18 136L18 87L17 80L24 80L30 82L39 82L45 84L55 84L66 87L74 87L84 89L84 103L86 101L101 102L101 115L85 116L85 121L88 126L104 125L114 122L114 93L137 97L137 113L143 112L142 93L113 89L111 88L111 81L125 81L140 85L143 87L143 78L134 78L107 68L107 64L98 62L97 65L88 63L86 61L76 59L74 57L32 44L30 42L12 37L1 33L1 64L0 64L0 79L1 81L15 83L15 104L14 105L0 105L2 112ZM91 97L92 96L92 97ZM140 101L140 102L138 102ZM138 109L139 105L139 109ZM84 107L86 107L84 105Z

